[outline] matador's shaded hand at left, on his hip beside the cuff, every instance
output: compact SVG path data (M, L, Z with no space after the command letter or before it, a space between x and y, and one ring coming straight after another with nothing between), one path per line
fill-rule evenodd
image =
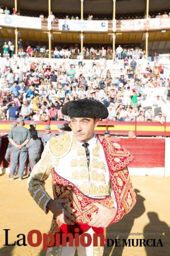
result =
M50 200L47 204L47 209L52 211L54 216L59 219L64 224L68 225L74 225L74 222L70 221L67 217L70 219L74 219L74 217L66 211L66 209L62 206L62 203L67 203L69 201L68 198L65 199L56 199L56 200Z

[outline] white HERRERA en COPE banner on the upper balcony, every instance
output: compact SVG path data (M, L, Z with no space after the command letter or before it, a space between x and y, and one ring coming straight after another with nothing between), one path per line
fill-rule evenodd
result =
M108 31L107 20L59 19L59 30L63 31Z

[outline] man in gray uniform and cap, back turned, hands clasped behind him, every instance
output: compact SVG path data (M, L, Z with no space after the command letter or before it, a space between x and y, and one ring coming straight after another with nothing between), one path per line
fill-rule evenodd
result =
M11 153L11 178L14 180L14 173L19 159L19 180L22 180L25 163L27 161L27 148L25 145L29 142L31 134L27 128L24 127L24 118L17 118L17 127L9 132L9 142L12 144Z

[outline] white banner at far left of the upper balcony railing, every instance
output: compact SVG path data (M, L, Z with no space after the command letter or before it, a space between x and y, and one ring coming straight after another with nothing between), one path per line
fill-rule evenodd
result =
M0 14L0 26L41 29L41 18Z

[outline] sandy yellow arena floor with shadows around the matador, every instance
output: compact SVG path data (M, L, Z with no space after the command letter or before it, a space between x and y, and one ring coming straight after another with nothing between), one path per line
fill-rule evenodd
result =
M50 228L52 213L48 215L36 205L27 190L25 177L19 181L6 180L7 174L0 176L0 256L44 256L42 246L3 246L5 231L10 229L9 243L13 243L17 234L25 234L32 229L47 233ZM133 210L120 222L107 229L107 238L161 239L163 247L106 247L104 256L167 256L170 255L170 177L132 176L138 202ZM52 196L51 179L46 182L46 189ZM160 233L150 236L137 236L126 233ZM165 232L165 236L163 236ZM122 234L125 233L125 234ZM27 243L27 240L26 240ZM156 242L157 244L157 242Z

